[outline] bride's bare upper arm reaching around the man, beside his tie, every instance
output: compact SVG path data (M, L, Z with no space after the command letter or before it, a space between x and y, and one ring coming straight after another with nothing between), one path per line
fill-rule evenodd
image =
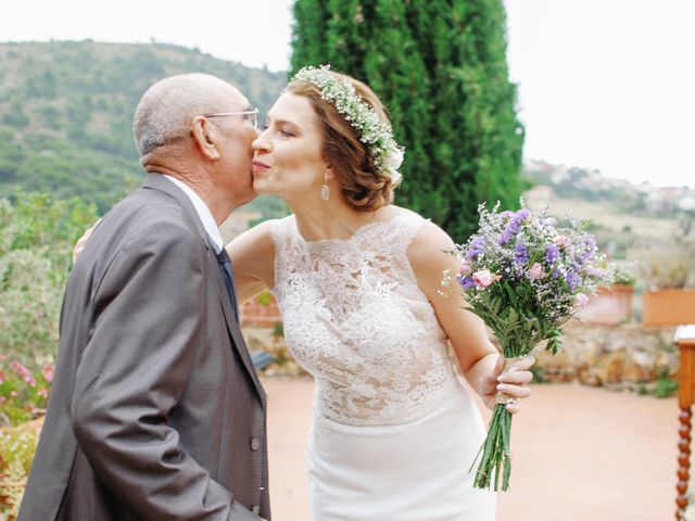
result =
M275 284L275 244L270 226L269 220L261 223L225 246L235 270L239 303L247 302Z

